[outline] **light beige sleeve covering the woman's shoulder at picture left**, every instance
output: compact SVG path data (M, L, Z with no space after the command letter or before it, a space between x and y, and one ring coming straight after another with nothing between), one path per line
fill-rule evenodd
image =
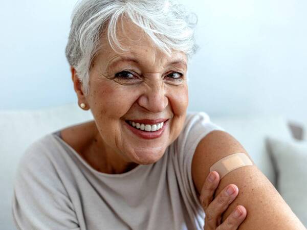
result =
M18 229L80 229L74 207L57 171L36 142L18 164L12 215Z

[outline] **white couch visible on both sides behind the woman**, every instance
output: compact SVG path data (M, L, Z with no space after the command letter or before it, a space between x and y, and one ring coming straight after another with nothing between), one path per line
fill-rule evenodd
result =
M13 180L19 158L25 149L42 135L92 119L92 113L81 110L77 104L40 110L0 111L0 229L16 229L11 215ZM286 119L282 116L253 116L211 117L211 120L236 137L275 186L276 173L266 148L265 137L269 135L291 140Z

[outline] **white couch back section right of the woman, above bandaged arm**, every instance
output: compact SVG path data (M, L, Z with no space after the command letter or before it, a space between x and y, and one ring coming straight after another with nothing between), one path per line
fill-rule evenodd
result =
M276 186L276 177L270 155L265 144L266 136L292 140L287 120L282 116L211 117L235 137L252 157L257 167Z

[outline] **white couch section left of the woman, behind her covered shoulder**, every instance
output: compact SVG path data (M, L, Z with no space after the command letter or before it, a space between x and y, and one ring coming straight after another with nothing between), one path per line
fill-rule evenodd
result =
M77 104L40 110L0 111L0 178L5 187L0 190L1 229L15 229L11 215L13 181L20 156L41 136L93 118ZM5 225L3 225L5 224Z

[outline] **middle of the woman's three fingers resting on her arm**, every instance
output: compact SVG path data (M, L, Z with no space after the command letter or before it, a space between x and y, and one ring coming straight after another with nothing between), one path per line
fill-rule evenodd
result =
M239 193L236 185L230 184L218 194L205 210L205 222L210 226L218 226L222 221L222 214L228 208L229 204L236 198Z

